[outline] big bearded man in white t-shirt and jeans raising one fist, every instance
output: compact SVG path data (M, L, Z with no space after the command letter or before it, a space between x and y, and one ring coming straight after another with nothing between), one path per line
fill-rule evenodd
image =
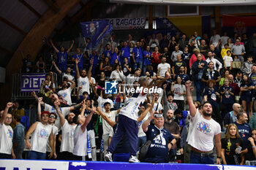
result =
M203 113L196 109L191 87L192 82L186 82L187 102L189 105L189 114L191 117L191 125L189 125L189 139L188 144L192 146L190 152L190 163L207 163L214 164L214 139L217 151L217 164L220 164L221 141L220 132L221 127L219 123L211 118L212 107L206 102L203 104ZM206 123L207 122L207 123ZM203 154L202 154L203 153Z

